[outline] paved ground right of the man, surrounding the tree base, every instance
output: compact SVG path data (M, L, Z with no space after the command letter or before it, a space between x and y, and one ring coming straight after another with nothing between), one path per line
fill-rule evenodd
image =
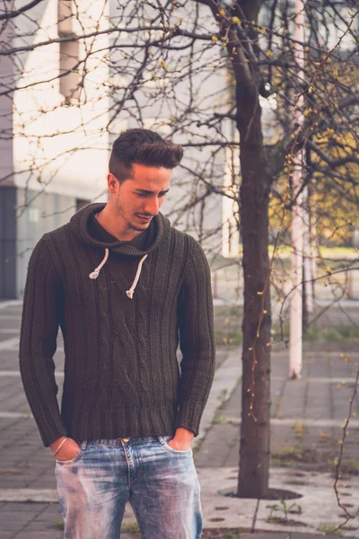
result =
M268 522L267 506L280 505L279 502L223 496L223 491L235 491L238 476L241 423L241 384L238 384L231 398L215 413L213 424L196 452L206 528L239 527L254 533L266 530L279 536L278 532L283 531L287 532L285 536L292 533L293 537L300 537L301 533L309 537L322 535L345 521L331 484L333 463L339 451L337 440L342 437L341 425L355 389L356 369L346 358L358 363L359 350L355 354L344 352L341 357L340 352L330 350L328 345L328 351L325 348L323 343L306 344L302 379L296 381L286 377L286 350L274 350L272 355L270 487L297 493L298 499L285 503L287 507L292 503L301 506L302 515L290 515L292 525L273 524ZM233 350L226 362L239 356L240 350ZM359 411L357 395L355 411ZM349 432L339 490L355 518L341 532L343 536L359 537L359 420L356 418L350 421ZM283 517L283 513L277 511L274 516Z

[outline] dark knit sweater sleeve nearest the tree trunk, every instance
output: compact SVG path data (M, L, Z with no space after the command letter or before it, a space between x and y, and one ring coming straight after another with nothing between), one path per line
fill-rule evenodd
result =
M215 374L215 335L208 261L201 245L194 238L190 241L192 249L179 296L182 360L176 428L192 430L197 436Z

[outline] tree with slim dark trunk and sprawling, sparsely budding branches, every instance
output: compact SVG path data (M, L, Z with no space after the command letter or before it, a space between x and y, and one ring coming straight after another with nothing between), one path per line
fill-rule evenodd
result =
M185 219L188 231L210 243L213 254L223 224L211 223L211 211L218 197L232 200L244 278L237 494L263 498L269 478L272 344L268 208L270 201L278 208L279 241L299 194L293 194L291 182L298 149L307 155L301 192L310 184L316 199L330 185L337 193L350 190L357 201L355 3L305 3L302 78L293 55L290 0L99 0L96 9L83 0L60 0L59 6L58 22L48 14L46 0L21 10L9 9L3 0L0 7L6 35L0 57L11 66L0 97L15 103L14 132L26 155L15 172L27 175L30 190L34 179L38 193L49 190L67 159L92 147L99 150L96 137L108 134L110 140L127 122L157 128L188 148L175 178L172 224L183 225ZM50 62L57 49L59 68L41 70L35 62L31 72L24 69L32 53L42 50ZM42 102L39 90L52 92L51 85L60 82L65 99ZM21 105L24 93L33 100L31 112ZM299 128L293 117L300 96L305 120ZM267 110L266 102L274 102L273 109ZM64 107L74 110L71 128L58 121ZM81 110L91 112L83 117ZM4 128L3 144L12 138ZM58 141L55 150L49 150L48 140ZM229 155L233 163L240 161L240 173ZM225 171L232 181L223 187ZM3 183L8 179L4 172ZM25 198L21 208L32 199Z

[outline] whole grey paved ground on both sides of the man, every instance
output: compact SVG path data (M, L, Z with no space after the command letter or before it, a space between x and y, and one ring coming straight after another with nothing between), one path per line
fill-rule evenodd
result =
M42 446L18 369L20 318L20 302L0 303L0 539L60 539L62 518L54 460ZM63 362L64 351L59 343L56 363L60 385ZM288 380L288 351L283 344L274 347L270 487L290 490L296 496L287 499L281 511L279 501L232 496L239 463L241 349L218 347L215 382L201 433L193 445L201 483L204 537L331 536L345 522L346 510L351 518L340 534L359 537L356 417L350 420L338 486L342 508L332 486L340 449L338 439L355 391L358 364L359 349L353 343L313 341L304 348L302 379ZM358 413L357 394L353 406ZM135 528L135 517L127 508L121 538L138 537Z

